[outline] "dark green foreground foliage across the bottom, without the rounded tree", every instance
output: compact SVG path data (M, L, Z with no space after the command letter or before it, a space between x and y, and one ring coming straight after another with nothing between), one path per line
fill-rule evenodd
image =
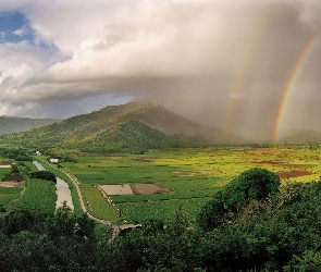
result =
M170 222L147 222L112 243L67 207L53 215L15 211L0 221L0 269L320 271L320 195L321 182L288 184L270 197L238 198L229 221L209 231L178 211Z

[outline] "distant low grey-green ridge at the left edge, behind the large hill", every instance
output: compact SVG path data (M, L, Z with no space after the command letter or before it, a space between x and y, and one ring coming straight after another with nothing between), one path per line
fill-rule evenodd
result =
M42 125L48 125L58 121L60 120L0 116L0 135L24 132Z

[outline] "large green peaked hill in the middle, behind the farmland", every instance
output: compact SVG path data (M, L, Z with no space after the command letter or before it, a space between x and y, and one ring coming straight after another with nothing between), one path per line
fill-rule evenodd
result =
M12 134L5 139L85 152L143 152L150 148L242 141L232 134L192 122L162 106L141 102L109 106L29 132Z

